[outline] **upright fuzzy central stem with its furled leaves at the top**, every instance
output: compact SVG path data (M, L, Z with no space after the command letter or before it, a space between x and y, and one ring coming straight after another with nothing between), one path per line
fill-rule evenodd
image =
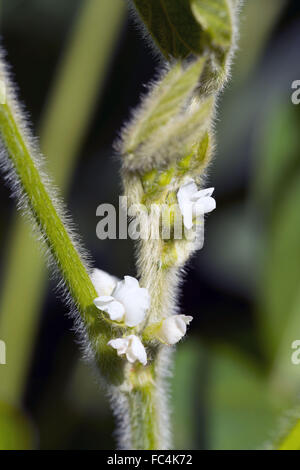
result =
M143 204L148 212L146 218L143 211L131 214L148 229L146 239L138 242L137 268L141 285L151 295L148 317L139 331L150 341L151 366L142 374L133 369L130 375L131 443L135 448L161 449L170 446L169 437L164 442L160 432L169 421L170 364L164 358L170 346L162 346L159 336L155 340L155 329L176 313L180 272L202 243L174 236L172 207L189 179L203 183L212 157L215 104L228 77L237 2L163 0L149 5L134 0L134 4L160 51L171 59L167 73L152 86L118 145L124 158L125 195L130 204ZM160 218L151 212L153 205ZM170 209L167 216L165 206ZM166 222L171 222L169 238L163 234Z

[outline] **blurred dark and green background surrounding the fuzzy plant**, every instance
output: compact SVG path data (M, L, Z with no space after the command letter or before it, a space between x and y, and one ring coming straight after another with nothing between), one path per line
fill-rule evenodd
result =
M96 208L117 205L112 144L159 69L124 0L2 0L2 43L95 265L135 274L133 243L96 237ZM300 5L246 0L232 81L219 102L208 181L218 210L180 299L194 316L177 348L178 449L254 449L297 406L300 365ZM36 243L0 185L0 449L113 449L108 399L80 356L72 321Z

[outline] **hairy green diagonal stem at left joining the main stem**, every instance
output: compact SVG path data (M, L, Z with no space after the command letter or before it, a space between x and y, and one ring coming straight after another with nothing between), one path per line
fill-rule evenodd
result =
M110 382L120 380L120 359L107 346L111 325L93 305L97 292L91 282L84 255L79 253L72 231L62 222L63 210L49 190L49 183L38 168L38 152L30 142L25 119L18 108L5 66L1 77L7 85L7 102L0 105L0 135L5 152L2 165L8 181L13 181L16 197L41 231L51 258L62 276L65 293L79 316L82 336L89 338L90 349L99 369ZM15 293L17 295L15 286ZM74 311L74 315L76 315ZM84 325L84 326L83 326Z

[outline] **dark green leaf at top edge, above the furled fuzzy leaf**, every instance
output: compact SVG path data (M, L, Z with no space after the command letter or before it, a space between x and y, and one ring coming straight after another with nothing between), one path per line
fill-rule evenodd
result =
M134 0L161 52L177 59L205 49L230 47L231 11L227 0Z

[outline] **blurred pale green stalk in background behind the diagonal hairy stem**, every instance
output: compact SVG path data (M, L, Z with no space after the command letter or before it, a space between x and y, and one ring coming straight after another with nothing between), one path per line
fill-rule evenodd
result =
M104 85L124 12L122 0L84 2L46 103L41 148L64 193ZM0 333L9 348L9 364L2 371L0 397L18 404L24 393L47 274L28 224L20 216L10 233L0 301ZM14 296L11 293L16 285L18 295Z

